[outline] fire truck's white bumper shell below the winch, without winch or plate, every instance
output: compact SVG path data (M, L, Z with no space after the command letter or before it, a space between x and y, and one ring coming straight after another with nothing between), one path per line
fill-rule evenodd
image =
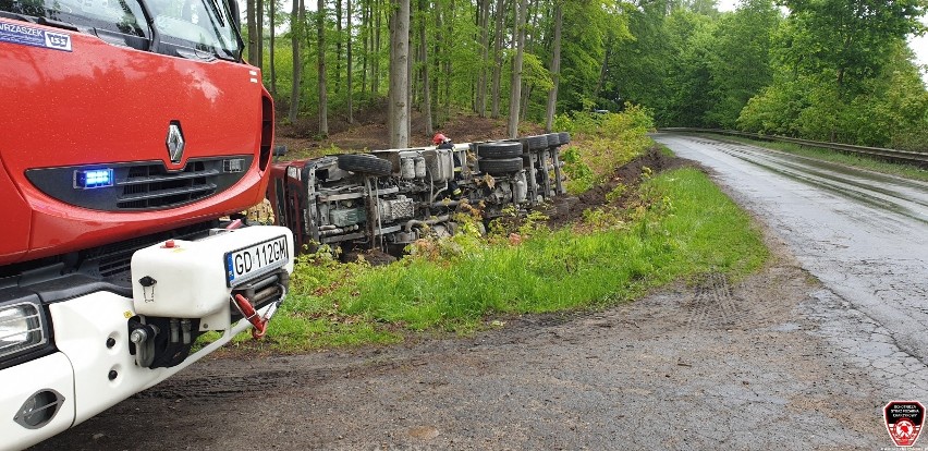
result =
M132 306L132 298L108 292L49 306L59 352L0 370L0 449L21 450L89 419L252 327L241 319L180 365L145 368L126 350ZM273 307L257 313L269 316Z

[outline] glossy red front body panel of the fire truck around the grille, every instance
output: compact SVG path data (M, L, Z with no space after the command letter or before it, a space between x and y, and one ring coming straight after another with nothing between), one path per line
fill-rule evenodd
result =
M0 205L8 215L0 265L173 229L261 200L273 112L256 68L68 34L72 51L0 41ZM166 144L172 121L182 124L185 139L178 163L171 162ZM222 156L252 157L234 185L181 206L145 211L75 206L49 196L26 176L40 168L134 161L162 161L168 171L178 171L193 158Z

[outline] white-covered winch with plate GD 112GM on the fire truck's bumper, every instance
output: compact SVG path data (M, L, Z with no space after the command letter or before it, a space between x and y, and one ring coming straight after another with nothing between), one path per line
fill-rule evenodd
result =
M197 336L228 330L241 318L262 337L286 294L293 254L293 233L282 227L217 229L199 241L169 240L136 252L129 319L136 365L174 366Z

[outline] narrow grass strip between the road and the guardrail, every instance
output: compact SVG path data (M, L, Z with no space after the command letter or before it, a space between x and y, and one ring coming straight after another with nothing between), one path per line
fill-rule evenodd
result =
M906 179L920 180L928 182L928 170L918 168L913 164L896 163L883 161L880 159L870 158L856 154L844 154L837 150L822 149L818 147L801 146L793 143L774 143L769 141L750 139L742 136L728 136L707 134L719 139L733 141L752 146L764 147L773 150L785 151L801 157L813 158L816 160L829 161L839 164L851 166L854 168L867 169L874 172L898 175Z

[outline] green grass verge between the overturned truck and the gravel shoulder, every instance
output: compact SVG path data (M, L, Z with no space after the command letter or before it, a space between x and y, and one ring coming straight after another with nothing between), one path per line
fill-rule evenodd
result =
M438 243L441 258L383 267L309 257L259 346L298 352L468 332L497 316L600 308L711 272L737 279L766 260L749 217L701 172L662 173L638 194L640 206L609 230L539 231L517 244L461 233Z

